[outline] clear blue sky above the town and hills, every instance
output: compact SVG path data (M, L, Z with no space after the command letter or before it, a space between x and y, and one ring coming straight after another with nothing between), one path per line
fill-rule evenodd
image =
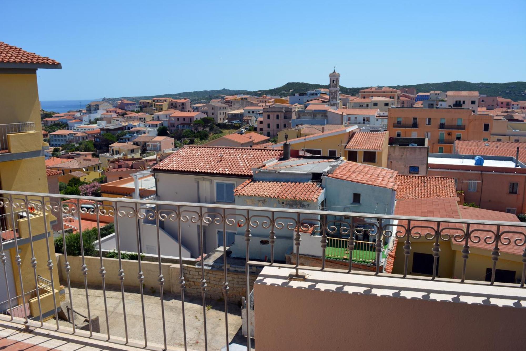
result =
M62 63L42 100L526 80L526 2L8 1L0 40ZM508 14L508 15L506 15ZM503 17L502 17L503 16Z

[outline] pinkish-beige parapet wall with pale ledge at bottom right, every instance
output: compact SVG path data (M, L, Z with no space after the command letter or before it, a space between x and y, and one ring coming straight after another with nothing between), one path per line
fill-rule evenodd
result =
M257 349L480 351L526 343L526 313L514 307L526 292L518 288L315 271L295 282L291 271L265 267L254 285Z

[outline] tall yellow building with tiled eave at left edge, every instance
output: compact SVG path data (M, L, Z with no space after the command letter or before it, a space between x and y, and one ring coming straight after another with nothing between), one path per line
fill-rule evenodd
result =
M54 59L0 42L2 191L48 192L37 85L37 70L47 68L62 66ZM15 195L19 200L6 201L10 196L3 193L4 202L0 207L0 311L7 314L5 311L10 307L13 311L18 307L17 316L37 321L40 313L43 318L54 313L54 298L59 305L61 288L57 269L45 263L36 265L36 262L55 260L50 222L58 215L53 216L48 210L44 215L44 198L26 197L23 201L22 195ZM18 206L14 202L18 202ZM36 282L36 276L44 279ZM39 301L32 291L39 291ZM24 301L23 292L26 293Z

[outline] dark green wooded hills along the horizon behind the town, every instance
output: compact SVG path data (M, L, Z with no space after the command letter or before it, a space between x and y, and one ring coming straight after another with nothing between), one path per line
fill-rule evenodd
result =
M314 90L318 88L328 88L328 85L323 84L310 84L303 82L288 82L281 87L273 89L262 89L262 90L234 90L234 89L218 89L218 90L198 90L198 91L184 91L178 92L177 94L163 94L163 95L151 95L151 96L123 96L119 98L103 98L102 100L108 101L114 106L117 105L117 101L120 99L127 99L131 101L147 100L156 97L170 97L175 99L189 98L193 104L197 102L209 101L210 99L219 98L225 95L236 95L236 94L248 94L248 95L272 95L272 96L289 96L294 95L297 92L306 92L308 90ZM392 88L415 88L418 92L429 92L431 90L477 90L480 94L487 96L502 96L509 98L514 101L526 100L526 82L514 81L509 83L471 83L469 81L454 80L445 81L441 83L424 83L415 85L397 85L390 86ZM348 95L358 95L358 91L361 89L370 88L346 88L340 86L340 92Z

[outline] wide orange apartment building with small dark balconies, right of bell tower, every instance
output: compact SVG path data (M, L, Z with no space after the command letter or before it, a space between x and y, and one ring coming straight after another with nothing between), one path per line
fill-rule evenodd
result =
M427 138L430 152L452 153L455 140L490 140L492 115L470 108L401 108L388 111L391 137Z

